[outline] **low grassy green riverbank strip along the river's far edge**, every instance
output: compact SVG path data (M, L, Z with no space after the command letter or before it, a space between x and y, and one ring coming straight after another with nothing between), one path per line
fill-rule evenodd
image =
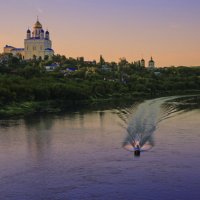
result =
M0 119L26 117L34 114L46 113L67 113L83 110L105 110L115 109L118 107L131 106L134 102L141 102L146 99L173 96L173 95L199 95L200 91L176 91L173 93L165 92L165 94L119 94L110 96L109 98L92 97L89 100L50 100L50 101L26 101L14 102L0 108ZM197 102L200 104L200 102Z

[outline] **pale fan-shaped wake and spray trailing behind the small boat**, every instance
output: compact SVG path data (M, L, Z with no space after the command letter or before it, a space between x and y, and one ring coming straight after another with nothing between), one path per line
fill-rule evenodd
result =
M121 125L127 131L127 137L123 141L123 148L128 151L135 151L139 146L141 151L151 149L154 142L154 132L163 120L184 112L178 109L177 105L170 101L178 97L164 97L144 101L135 104L131 108L122 109L118 116Z

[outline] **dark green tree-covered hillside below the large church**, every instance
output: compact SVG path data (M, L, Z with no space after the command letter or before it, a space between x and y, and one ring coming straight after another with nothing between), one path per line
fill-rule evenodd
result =
M46 65L59 63L52 72ZM103 67L103 66L106 66ZM74 68L65 73L66 68ZM105 70L106 69L106 70ZM84 101L106 98L163 96L200 90L200 67L149 70L140 62L84 61L55 55L51 60L24 61L0 55L0 105L25 101Z

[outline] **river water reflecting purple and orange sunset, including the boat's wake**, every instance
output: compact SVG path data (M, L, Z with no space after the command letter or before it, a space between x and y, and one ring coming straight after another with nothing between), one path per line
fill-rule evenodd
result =
M199 200L196 102L0 121L0 200ZM134 157L133 137L152 148Z

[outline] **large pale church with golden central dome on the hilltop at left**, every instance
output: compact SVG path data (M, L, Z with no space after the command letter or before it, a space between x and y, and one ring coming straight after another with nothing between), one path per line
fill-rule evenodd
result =
M20 54L23 59L30 60L34 57L44 59L45 56L48 56L50 58L53 56L54 50L52 49L49 31L44 31L42 24L37 19L32 33L30 29L27 30L24 48L15 48L6 45L4 53L12 53L15 56Z

